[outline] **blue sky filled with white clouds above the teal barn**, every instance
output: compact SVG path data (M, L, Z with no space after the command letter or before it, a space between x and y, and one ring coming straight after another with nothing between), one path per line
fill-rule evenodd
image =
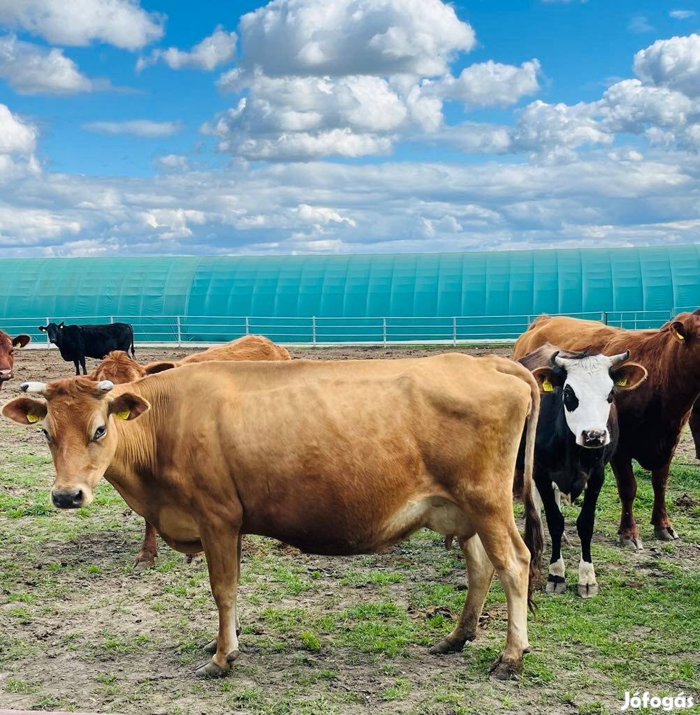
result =
M696 0L0 0L0 255L696 242L698 32Z

